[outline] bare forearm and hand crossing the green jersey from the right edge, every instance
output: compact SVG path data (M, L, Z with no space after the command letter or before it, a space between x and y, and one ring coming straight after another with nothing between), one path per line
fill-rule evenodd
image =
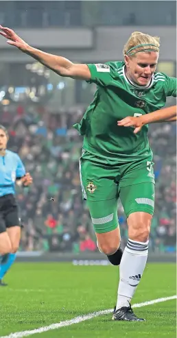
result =
M156 122L171 122L176 121L176 106L156 110L150 114L141 115L140 117L126 117L121 121L117 121L117 125L123 127L134 127L134 134L140 132L145 124Z

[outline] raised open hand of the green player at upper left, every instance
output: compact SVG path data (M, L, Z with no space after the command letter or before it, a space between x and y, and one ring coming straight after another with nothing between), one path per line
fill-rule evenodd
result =
M22 38L20 38L12 29L8 27L3 27L0 25L0 35L3 36L4 38L8 39L7 43L9 45L13 45L21 51L26 51L27 50L27 43L25 43Z

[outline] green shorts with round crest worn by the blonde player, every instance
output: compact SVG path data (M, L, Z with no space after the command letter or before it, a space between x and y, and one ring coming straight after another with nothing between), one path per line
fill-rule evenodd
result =
M95 232L117 228L119 197L126 217L137 211L153 215L153 165L151 160L141 160L113 166L103 165L97 158L94 161L84 155L80 158L82 195L87 201Z

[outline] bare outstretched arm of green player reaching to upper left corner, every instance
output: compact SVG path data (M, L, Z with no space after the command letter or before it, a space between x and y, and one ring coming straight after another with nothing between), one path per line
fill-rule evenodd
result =
M23 53L32 56L38 62L64 77L72 77L73 79L91 80L91 71L86 64L74 64L73 62L56 56L45 53L34 47L29 46L22 38L20 38L12 29L0 25L0 34L7 38L7 43L19 48Z

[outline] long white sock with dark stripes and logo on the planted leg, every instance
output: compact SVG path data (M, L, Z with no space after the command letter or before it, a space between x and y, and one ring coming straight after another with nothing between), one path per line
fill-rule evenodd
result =
M145 243L128 239L119 267L119 287L116 309L129 306L145 269L148 241Z

